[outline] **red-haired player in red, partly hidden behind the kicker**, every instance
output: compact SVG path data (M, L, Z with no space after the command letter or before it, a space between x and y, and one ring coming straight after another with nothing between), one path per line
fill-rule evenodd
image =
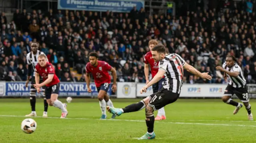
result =
M148 42L149 49L151 50L157 44L158 44L158 41L150 40ZM148 71L149 71L148 65L150 65L152 78L154 78L154 76L158 72L158 62L156 62L156 61L154 61L154 59L152 59L152 53L151 53L151 51L149 51L144 56L144 63L145 63L144 64L145 65L144 73L145 73L145 77L146 77L146 84L148 84L148 82L149 82L149 80L148 80ZM162 83L164 81L165 81L165 79L163 77L159 82L156 82L155 84L152 85L153 93L158 92L158 90L160 90L163 87ZM155 120L162 120L162 119L166 119L164 107L158 110L157 116L155 118Z

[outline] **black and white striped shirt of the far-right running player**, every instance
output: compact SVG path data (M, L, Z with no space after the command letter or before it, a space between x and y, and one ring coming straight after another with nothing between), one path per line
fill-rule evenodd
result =
M242 73L241 67L236 63L232 68L229 68L226 65L226 62L222 65L223 69L230 71L230 72L239 72L238 77L232 77L229 74L228 77L230 78L229 85L233 86L234 88L244 87L246 85L246 79Z

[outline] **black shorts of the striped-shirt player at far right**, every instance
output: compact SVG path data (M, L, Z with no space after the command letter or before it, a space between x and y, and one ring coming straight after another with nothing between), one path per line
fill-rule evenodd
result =
M240 87L240 88L234 88L233 86L228 85L226 87L226 90L225 90L223 96L233 96L234 94L236 94L236 96L242 102L249 102L248 90L247 90L246 85L244 87Z

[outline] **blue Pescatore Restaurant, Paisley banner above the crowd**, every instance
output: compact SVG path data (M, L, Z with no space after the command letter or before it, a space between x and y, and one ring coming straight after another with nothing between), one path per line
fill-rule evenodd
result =
M59 10L130 12L144 8L144 0L58 0Z

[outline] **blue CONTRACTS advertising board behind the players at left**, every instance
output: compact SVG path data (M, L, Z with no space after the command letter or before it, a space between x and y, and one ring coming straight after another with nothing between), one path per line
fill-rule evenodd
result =
M2 82L0 82L0 96L2 92ZM6 82L5 96L30 96L30 84L26 88L25 82ZM111 95L111 87L108 94ZM59 96L97 96L98 91L94 83L90 84L92 92L87 91L86 83L84 82L61 82ZM4 91L4 90L3 90Z

